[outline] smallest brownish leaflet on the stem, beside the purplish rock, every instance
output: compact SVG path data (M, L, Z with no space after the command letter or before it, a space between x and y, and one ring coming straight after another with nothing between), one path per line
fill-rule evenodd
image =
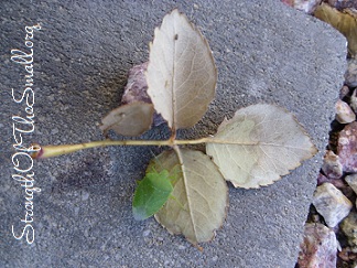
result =
M102 120L100 129L115 130L123 136L139 136L151 128L154 109L152 104L141 101L122 105L111 110Z

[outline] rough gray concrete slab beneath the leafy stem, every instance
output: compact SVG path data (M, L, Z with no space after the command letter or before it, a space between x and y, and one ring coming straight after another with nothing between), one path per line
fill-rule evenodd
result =
M298 257L315 178L327 143L345 71L345 39L280 1L2 1L0 267L286 267ZM239 2L239 3L238 3ZM214 133L244 106L272 103L294 112L320 153L275 184L230 187L227 221L201 253L150 218L136 222L136 180L160 149L105 148L35 162L35 242L17 240L25 193L14 174L12 115L24 90L24 68L10 50L34 36L35 131L24 143L102 139L100 118L115 108L126 73L148 60L148 43L163 15L178 7L207 37L219 72L217 98L198 126L181 137ZM143 138L167 137L165 126Z

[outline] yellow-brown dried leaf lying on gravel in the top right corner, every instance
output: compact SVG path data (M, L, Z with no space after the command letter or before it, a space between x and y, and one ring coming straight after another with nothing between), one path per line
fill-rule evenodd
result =
M348 41L348 52L351 56L357 56L357 15L356 13L340 12L326 3L317 7L314 15L334 26Z

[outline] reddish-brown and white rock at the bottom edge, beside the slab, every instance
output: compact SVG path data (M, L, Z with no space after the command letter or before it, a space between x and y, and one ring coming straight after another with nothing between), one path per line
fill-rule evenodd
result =
M337 239L335 233L323 224L307 223L300 245L298 267L336 267Z

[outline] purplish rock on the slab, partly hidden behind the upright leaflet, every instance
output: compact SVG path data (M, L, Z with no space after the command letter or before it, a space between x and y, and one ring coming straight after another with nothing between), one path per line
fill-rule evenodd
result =
M128 83L125 87L125 93L121 98L121 104L131 104L136 101L144 101L151 104L151 98L148 95L148 83L145 78L145 71L148 63L142 63L133 66L128 74ZM153 116L153 125L155 127L165 122L165 120L156 112Z

